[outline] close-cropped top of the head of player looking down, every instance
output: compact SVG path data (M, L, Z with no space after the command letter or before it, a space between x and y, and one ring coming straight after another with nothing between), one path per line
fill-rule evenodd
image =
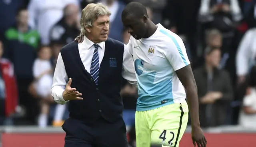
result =
M122 18L126 17L135 17L142 18L143 16L147 16L146 7L140 4L139 2L130 2L126 5L122 12Z

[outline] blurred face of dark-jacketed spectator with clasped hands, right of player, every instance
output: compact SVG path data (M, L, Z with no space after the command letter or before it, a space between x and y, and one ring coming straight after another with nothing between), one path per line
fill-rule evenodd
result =
M214 50L206 57L206 62L210 63L213 67L217 68L220 65L221 52Z

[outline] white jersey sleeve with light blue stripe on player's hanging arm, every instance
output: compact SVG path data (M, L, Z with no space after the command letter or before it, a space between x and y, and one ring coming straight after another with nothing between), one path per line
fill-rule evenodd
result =
M172 40L166 44L165 56L174 71L190 64L185 45L180 37L172 36Z

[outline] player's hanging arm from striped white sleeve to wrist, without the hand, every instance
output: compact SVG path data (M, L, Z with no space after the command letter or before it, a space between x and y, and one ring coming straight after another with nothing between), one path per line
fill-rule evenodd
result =
M186 89L191 123L194 126L200 126L197 86L190 66L190 61L188 60L188 56L186 54L186 48L180 38L177 38L175 42L171 42L170 47L172 48L167 51L166 55L170 64L172 65L172 68L180 79L180 82Z

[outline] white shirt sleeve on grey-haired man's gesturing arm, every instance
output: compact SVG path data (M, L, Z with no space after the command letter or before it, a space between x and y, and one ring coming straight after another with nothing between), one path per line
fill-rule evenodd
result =
M68 102L63 99L63 95L62 95L63 91L65 90L67 81L68 81L68 75L66 74L62 56L59 53L55 72L53 75L52 96L54 97L54 101L56 101L56 103L59 103L61 105L64 105L66 102Z

